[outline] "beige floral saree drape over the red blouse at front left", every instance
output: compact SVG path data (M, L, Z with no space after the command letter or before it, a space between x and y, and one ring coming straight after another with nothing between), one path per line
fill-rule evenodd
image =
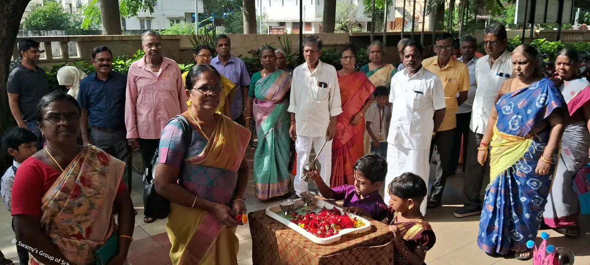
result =
M90 264L94 252L117 231L113 202L125 163L87 145L42 198L41 226L75 264ZM41 264L30 254L30 264Z

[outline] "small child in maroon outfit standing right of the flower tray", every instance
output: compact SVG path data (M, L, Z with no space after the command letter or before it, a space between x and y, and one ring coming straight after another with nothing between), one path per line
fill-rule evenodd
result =
M389 183L390 212L387 223L394 234L394 264L422 265L426 251L432 249L437 238L420 213L426 196L426 183L416 174L404 173Z

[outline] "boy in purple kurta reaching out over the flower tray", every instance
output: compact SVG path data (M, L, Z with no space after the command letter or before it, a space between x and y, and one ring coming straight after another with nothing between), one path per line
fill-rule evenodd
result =
M355 185L342 185L330 188L319 174L313 174L317 189L327 199L344 200L344 211L359 216L369 216L375 220L383 220L388 213L379 188L385 181L387 161L375 153L363 155L353 167Z

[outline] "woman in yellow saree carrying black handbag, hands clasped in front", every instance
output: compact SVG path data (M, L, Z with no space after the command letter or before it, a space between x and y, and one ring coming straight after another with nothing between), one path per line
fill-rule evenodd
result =
M189 110L171 120L160 138L156 192L171 201L166 231L173 264L237 264L237 214L245 214L250 131L215 113L221 85L210 65L195 65L186 84ZM191 135L185 143L186 134Z

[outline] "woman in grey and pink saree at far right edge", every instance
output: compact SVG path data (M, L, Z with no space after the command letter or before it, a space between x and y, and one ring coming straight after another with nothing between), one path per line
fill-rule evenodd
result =
M561 155L549 194L544 222L566 237L580 235L578 196L572 182L590 161L590 82L580 77L580 57L571 48L562 49L555 60L556 84L568 104L568 125L563 131Z

